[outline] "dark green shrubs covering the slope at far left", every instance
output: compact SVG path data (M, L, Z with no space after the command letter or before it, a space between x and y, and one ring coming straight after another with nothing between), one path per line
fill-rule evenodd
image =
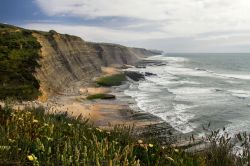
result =
M40 44L29 30L0 24L0 99L31 100L38 97Z

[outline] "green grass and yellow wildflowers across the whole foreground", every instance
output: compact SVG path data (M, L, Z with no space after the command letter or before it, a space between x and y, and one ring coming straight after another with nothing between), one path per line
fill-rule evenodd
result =
M219 131L207 148L185 152L134 135L129 126L105 131L81 116L46 113L42 108L0 108L0 165L240 166L249 163L249 136L238 134L243 154Z

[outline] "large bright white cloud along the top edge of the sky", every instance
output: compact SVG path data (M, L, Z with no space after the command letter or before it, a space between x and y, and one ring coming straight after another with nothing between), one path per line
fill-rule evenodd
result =
M50 16L128 17L143 19L147 23L153 21L152 24L157 21L162 24L161 30L171 36L250 28L249 0L36 0L36 2ZM134 22L133 26L136 26Z

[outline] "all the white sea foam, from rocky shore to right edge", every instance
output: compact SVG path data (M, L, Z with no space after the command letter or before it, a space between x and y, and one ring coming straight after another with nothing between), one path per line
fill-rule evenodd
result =
M162 118L183 133L192 132L196 128L195 123L190 123L195 117L192 112L194 106L183 103L200 107L211 106L213 103L218 104L219 102L222 104L228 103L229 100L232 101L232 96L238 98L250 97L250 91L227 90L223 87L225 82L240 83L242 80L250 79L250 75L220 74L202 68L188 68L183 64L189 60L181 57L154 56L148 59L163 60L166 61L167 65L133 68L134 71L150 72L157 74L157 76L146 76L145 81L133 84L130 89L125 91L125 94L135 98L137 106L141 110ZM201 77L200 82L199 77ZM220 79L223 82L218 81L217 87L210 87L210 85L204 83L202 77L211 77L214 80ZM231 98L227 98L228 96L231 96ZM195 111L197 110L195 109ZM239 123L239 125L235 125L235 123ZM239 131L239 128L244 128L246 125L250 126L250 122L242 121L242 123L241 121L232 122L231 125L227 126L228 130Z

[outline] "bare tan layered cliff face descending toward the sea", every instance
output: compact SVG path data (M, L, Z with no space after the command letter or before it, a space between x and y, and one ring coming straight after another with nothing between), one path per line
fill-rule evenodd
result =
M89 43L79 37L55 32L34 32L33 36L42 46L36 78L46 98L76 81L90 81L100 73L102 66L134 64L140 58L154 54L145 49Z

